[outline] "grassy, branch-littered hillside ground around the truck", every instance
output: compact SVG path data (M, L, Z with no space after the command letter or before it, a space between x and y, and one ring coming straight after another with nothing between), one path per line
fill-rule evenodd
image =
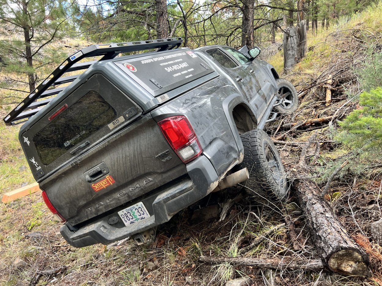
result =
M340 222L369 253L374 271L371 279L287 271L282 267L268 271L198 262L200 255L316 257L293 192L281 207L249 206L244 200L223 222L212 219L195 225L189 217L194 209L207 204L201 202L177 214L150 247L126 242L109 248L95 245L82 249L71 247L59 235L60 224L38 192L0 204L0 285L222 285L244 275L252 278L253 285L382 285L382 248L369 240L370 224L381 217L382 169L373 165L375 160L354 155L354 150L337 139L339 121L360 108L358 97L364 82L382 78L377 68L375 72L367 69L372 68L373 59L380 53L381 38L382 2L350 19L341 19L338 26L319 30L317 35L309 32L306 57L291 71L281 73L281 52L273 56L270 63L296 85L300 107L295 114L280 116L267 126L272 139L278 141L277 148L291 180L296 177L293 167L301 146L317 130L317 143L309 147L306 158L311 163L311 177L320 186L325 185L338 165L346 159L350 161L333 180L325 198ZM324 83L329 74L333 77L332 101L326 106ZM5 113L0 112L2 116ZM324 124L303 126L308 119L329 116L332 117ZM17 139L18 129L0 125L0 195L33 182ZM225 196L223 193L211 200L222 202ZM254 219L251 211L261 222ZM302 251L293 250L285 228L275 231L253 250L242 250L254 238L282 223L287 215L296 220Z

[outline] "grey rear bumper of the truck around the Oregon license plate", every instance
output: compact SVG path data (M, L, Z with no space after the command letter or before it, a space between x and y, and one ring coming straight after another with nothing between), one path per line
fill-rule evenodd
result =
M178 211L204 198L219 183L218 175L211 162L204 155L187 166L189 178L170 186L159 193L129 202L129 206L142 201L151 217L125 227L116 210L102 219L96 220L77 231L71 231L67 225L60 229L65 240L74 247L84 247L96 243L109 244L114 241L148 230L167 222ZM110 224L110 221L117 223ZM113 219L111 219L113 218Z

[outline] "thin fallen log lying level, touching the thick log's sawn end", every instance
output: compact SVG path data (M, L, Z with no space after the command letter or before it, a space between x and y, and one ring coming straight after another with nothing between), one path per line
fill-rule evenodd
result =
M228 263L230 265L252 266L260 269L291 269L291 270L309 270L321 271L324 265L320 259L301 259L296 260L290 257L278 258L248 258L248 257L214 257L214 256L200 256L199 260L212 264Z

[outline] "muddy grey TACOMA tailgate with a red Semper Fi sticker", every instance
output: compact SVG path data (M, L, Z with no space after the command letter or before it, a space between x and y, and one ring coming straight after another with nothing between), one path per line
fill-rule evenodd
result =
M157 123L147 115L40 186L57 211L76 225L186 172L185 164L173 153ZM97 173L101 177L97 178ZM91 182L88 182L89 178Z

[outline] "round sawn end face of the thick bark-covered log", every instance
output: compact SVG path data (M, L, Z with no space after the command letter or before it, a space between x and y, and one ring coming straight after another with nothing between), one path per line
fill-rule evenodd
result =
M354 249L343 249L335 252L328 261L330 270L346 275L371 277L371 272L364 258Z

